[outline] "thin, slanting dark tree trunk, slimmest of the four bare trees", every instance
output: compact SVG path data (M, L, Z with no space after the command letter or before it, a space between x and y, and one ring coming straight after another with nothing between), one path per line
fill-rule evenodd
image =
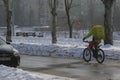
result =
M72 7L72 2L73 0L64 0L65 1L65 11L66 11L66 15L67 15L67 22L68 22L68 26L69 26L69 37L72 38L72 24L71 24L71 19L70 19L70 9Z

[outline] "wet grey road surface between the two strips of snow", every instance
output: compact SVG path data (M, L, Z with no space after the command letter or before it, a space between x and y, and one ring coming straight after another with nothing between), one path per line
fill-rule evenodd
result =
M120 61L113 60L98 64L94 59L86 63L79 59L21 55L18 68L76 80L120 80Z

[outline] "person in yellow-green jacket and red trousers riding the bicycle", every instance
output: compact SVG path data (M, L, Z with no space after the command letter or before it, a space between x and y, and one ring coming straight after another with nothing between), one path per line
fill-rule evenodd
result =
M93 40L89 43L88 47L92 49L93 47L97 47L101 40L105 37L103 26L92 25L89 33L83 38L83 41L91 36L93 37ZM93 54L93 56L96 57L95 54Z

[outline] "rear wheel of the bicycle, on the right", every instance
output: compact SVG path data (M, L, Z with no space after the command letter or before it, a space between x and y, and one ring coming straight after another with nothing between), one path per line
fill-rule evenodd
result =
M98 49L97 51L97 58L96 58L97 62L102 64L105 60L105 53L102 49Z

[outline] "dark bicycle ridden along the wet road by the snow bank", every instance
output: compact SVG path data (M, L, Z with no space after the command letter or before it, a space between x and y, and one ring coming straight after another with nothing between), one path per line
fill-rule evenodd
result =
M91 41L83 41L85 43L90 43ZM100 64L102 64L105 60L105 53L104 51L100 48L101 45L94 46L92 48L85 48L83 51L83 59L86 62L91 61L91 57L93 56L96 58L96 61Z

